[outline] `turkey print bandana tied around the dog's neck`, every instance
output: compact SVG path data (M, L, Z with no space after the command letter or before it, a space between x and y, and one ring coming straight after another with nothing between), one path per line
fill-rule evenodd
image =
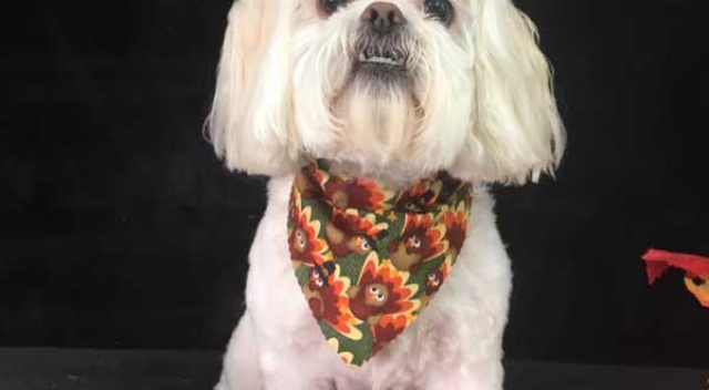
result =
M445 173L400 192L331 175L321 162L296 176L291 264L345 363L364 365L428 306L455 265L471 202L471 185Z

